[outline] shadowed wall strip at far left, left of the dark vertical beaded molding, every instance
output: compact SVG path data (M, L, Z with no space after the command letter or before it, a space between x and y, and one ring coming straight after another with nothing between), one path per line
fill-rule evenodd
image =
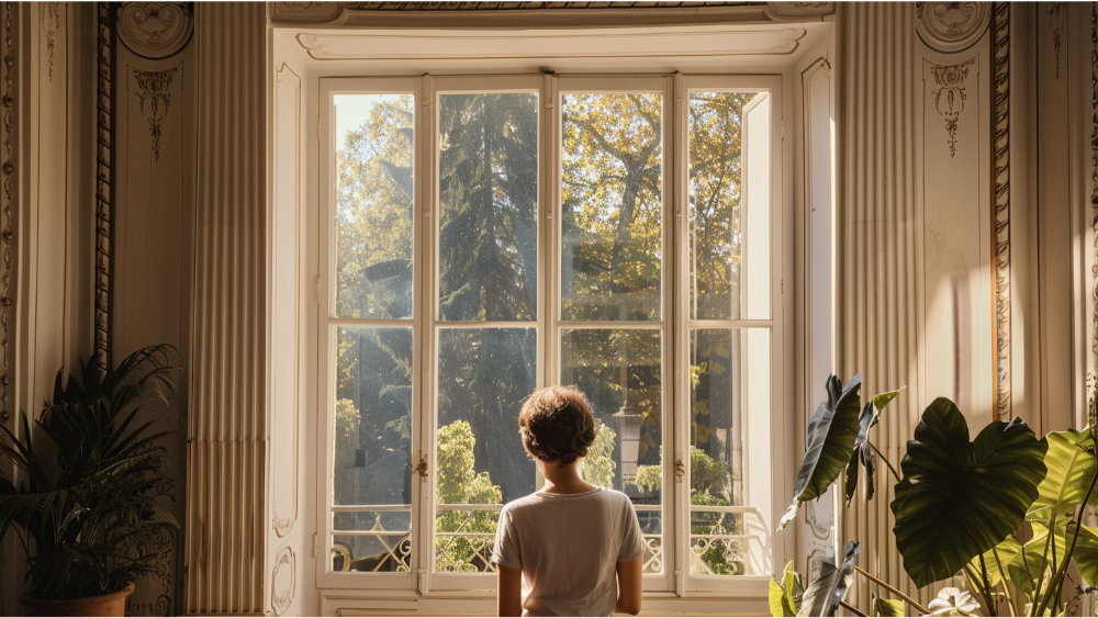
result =
M94 26L92 4L0 3L0 424L10 430L42 409L58 370L92 352L96 124L78 111L94 106ZM22 577L11 538L0 616L20 615L8 591Z

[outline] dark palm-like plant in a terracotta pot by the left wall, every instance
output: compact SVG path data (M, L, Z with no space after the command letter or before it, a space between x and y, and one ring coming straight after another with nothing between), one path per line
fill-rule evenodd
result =
M53 402L0 436L15 482L0 477L0 539L12 530L26 554L29 618L122 618L134 581L156 569L157 538L178 529L165 507L173 481L160 469L156 420L138 423L148 394L165 403L173 348L152 346L81 379L57 373Z

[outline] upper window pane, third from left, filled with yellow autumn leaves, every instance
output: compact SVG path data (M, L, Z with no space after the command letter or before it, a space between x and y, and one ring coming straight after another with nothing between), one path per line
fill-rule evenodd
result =
M658 321L663 98L561 99L561 317Z

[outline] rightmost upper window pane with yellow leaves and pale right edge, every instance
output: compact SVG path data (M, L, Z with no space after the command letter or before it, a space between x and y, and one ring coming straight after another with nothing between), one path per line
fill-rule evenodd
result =
M770 317L769 115L765 123L755 123L766 133L762 147L759 137L751 136L751 153L763 155L755 167L764 166L751 171L758 171L763 183L751 187L750 203L744 191L744 172L750 167L746 165L744 108L769 104L754 101L758 95L690 93L687 202L693 319Z

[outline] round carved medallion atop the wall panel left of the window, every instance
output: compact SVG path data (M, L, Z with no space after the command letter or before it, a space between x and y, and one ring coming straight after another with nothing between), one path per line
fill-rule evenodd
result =
M138 0L119 9L119 38L145 58L167 58L182 49L194 31L193 0Z

